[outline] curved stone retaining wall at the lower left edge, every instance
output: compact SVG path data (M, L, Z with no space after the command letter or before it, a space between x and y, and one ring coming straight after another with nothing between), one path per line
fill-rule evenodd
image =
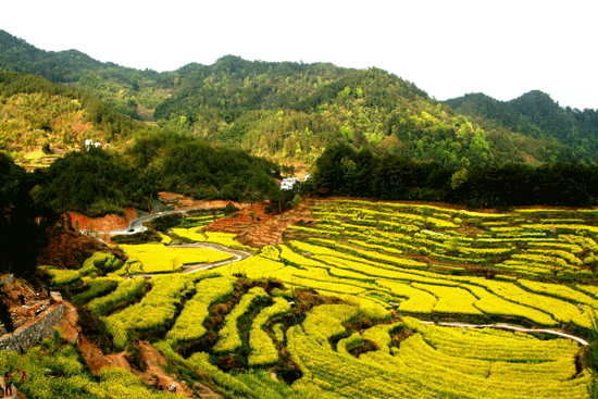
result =
M64 303L60 292L51 292L52 304L35 319L32 319L13 333L0 337L0 350L25 352L42 338L54 333L60 320L64 316Z

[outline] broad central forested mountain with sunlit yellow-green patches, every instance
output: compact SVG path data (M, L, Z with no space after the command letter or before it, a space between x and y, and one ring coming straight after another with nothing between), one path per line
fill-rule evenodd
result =
M177 74L180 88L154 113L164 126L263 157L313 163L326 146L348 144L451 166L574 159L559 144L485 129L377 68L228 55Z

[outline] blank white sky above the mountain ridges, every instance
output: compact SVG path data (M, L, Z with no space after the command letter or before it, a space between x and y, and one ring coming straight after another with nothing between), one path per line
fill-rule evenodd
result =
M43 50L173 71L246 60L376 66L438 100L538 89L598 109L595 0L23 0L0 28Z

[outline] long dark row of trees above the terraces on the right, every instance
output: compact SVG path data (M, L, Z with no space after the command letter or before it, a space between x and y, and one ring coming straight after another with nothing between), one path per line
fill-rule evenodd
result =
M304 190L322 195L462 203L472 208L589 207L598 199L598 166L580 163L449 167L407 157L375 157L328 147Z

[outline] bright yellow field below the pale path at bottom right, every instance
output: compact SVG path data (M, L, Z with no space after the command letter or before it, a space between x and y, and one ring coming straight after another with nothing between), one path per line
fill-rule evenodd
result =
M288 349L303 371L292 385L297 390L347 398L587 398L589 375L577 374L578 348L568 340L443 328L404 317L412 335L399 347L356 358L322 339L339 334L351 313L319 310L287 331ZM388 329L376 336L391 342Z

